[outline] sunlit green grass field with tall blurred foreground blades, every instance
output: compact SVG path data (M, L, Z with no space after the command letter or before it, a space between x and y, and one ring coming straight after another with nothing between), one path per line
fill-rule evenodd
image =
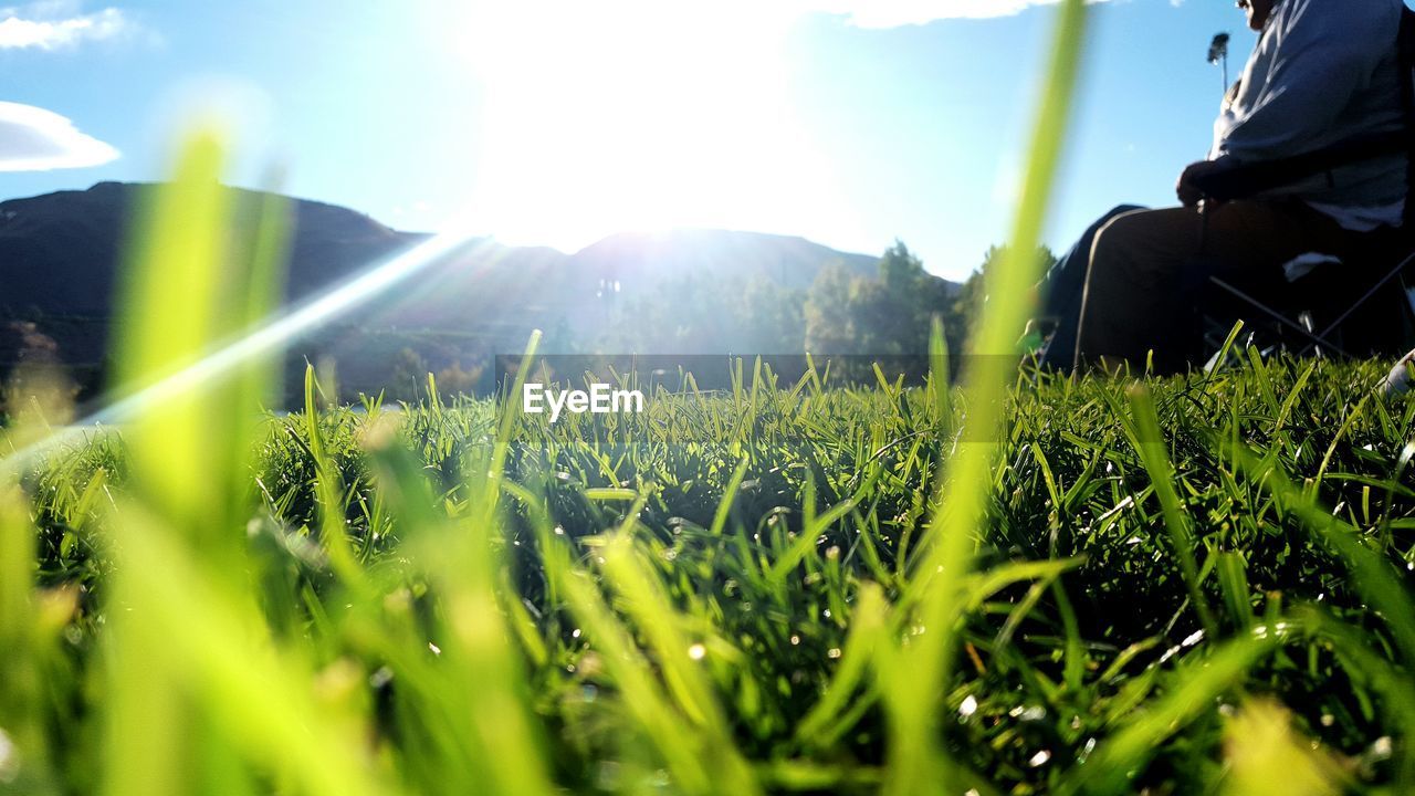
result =
M269 360L183 378L279 272L280 208L225 241L219 169L197 136L140 227L122 431L4 429L0 792L1415 788L1415 402L1382 364L1017 378L1019 256L958 387L935 333L924 388L739 363L552 425L307 374L258 422Z

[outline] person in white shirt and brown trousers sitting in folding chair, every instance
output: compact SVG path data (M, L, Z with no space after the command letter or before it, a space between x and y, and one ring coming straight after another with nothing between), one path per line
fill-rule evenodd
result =
M1204 200L1199 184L1245 163L1290 157L1399 130L1401 0L1238 0L1259 33L1224 98L1208 160L1180 174L1182 207L1119 207L1049 272L1044 312L1057 330L1043 364L1182 370L1191 309L1208 276L1264 295L1307 252L1340 256L1367 232L1399 227L1407 159L1390 154L1300 178L1251 198Z

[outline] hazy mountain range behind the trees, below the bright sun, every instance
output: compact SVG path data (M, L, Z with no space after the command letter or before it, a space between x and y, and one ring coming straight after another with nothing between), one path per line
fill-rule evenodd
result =
M99 183L0 203L0 371L45 344L58 360L100 373L129 228L151 186ZM255 239L267 194L231 188L233 248ZM429 235L392 229L344 207L289 200L287 302L299 303L386 262ZM334 356L342 377L376 384L403 350L427 367L518 351L532 329L566 341L603 340L628 307L662 303L691 314L696 296L740 295L749 283L807 290L826 266L873 276L877 258L804 238L719 229L620 234L567 255L477 238L427 263L300 341L296 360ZM797 297L795 300L799 300ZM354 356L350 356L354 354ZM362 371L362 373L358 373ZM351 375L352 374L352 375Z

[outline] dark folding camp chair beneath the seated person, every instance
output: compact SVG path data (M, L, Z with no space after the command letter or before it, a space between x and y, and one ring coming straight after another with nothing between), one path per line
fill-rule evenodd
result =
M1206 197L1237 200L1305 177L1392 154L1405 154L1408 186L1404 227L1367 235L1365 245L1332 256L1299 258L1285 266L1286 285L1254 295L1231 280L1210 278L1201 299L1200 336L1207 351L1242 319L1252 343L1343 357L1399 354L1415 336L1415 13L1404 8L1398 34L1401 129L1348 140L1281 160L1242 164L1199 183ZM1353 280L1353 272L1364 279ZM1381 319L1381 320L1375 320Z

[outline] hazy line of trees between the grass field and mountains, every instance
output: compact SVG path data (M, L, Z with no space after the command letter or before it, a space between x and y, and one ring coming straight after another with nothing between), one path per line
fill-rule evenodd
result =
M925 271L908 246L896 241L862 275L845 263L826 265L809 288L792 288L768 275L722 278L710 272L682 272L638 295L606 307L591 327L556 324L545 330L546 354L733 354L741 357L859 356L848 378L873 381L869 361L910 361L910 375L928 351L932 319L942 320L949 353L957 363L968 350L969 331L986 300L985 275L1005 248L992 246L982 265L961 285ZM1043 266L1056 258L1037 249ZM440 391L485 394L494 390L491 356L463 358L405 347L389 363L388 397L412 398L426 390L433 373Z

